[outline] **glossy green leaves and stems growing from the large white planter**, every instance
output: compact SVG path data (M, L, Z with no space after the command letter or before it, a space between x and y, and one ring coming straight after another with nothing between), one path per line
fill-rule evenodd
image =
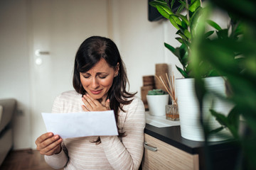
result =
M172 6L174 5L174 3L180 3L176 13L172 11ZM183 68L177 66L176 68L182 74L182 76L184 78L193 77L193 70L191 69L191 64L189 62L189 58L191 56L191 45L196 39L195 28L199 24L198 18L202 16L202 13L206 10L206 8L201 7L201 0L192 0L190 3L188 3L188 0L174 0L171 1L171 4L169 4L168 0L154 0L149 2L149 4L157 8L159 13L167 18L174 26L174 28L177 29L176 35L178 35L178 38L176 38L176 40L178 40L181 45L179 47L173 47L168 43L164 42L164 46L168 48L176 57L178 57L178 60L181 62ZM185 14L182 14L181 12L184 9L186 10L186 12ZM213 21L209 21L209 23L215 25L215 22ZM210 30L206 33L206 38L208 38L208 36L210 36L211 34L213 34L213 30ZM212 69L212 67L210 67L209 65L201 63L200 67L208 68L207 70L205 70L206 72L201 73L201 77L218 76L218 74L215 73L214 69Z

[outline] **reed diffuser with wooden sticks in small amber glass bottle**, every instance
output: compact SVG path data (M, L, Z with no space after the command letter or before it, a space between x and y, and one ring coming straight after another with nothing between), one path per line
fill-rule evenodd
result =
M174 73L171 75L170 79L166 73L166 81L161 76L156 76L156 78L163 84L167 93L171 96L172 104L166 105L166 119L179 120L177 97L175 95Z

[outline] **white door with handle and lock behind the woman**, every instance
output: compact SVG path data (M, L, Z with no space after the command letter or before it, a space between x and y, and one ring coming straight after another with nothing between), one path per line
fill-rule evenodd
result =
M46 132L41 113L51 111L60 93L73 90L73 65L80 44L91 35L108 36L107 1L31 1L31 16L33 143ZM38 49L49 55L35 55ZM42 64L37 65L37 59Z

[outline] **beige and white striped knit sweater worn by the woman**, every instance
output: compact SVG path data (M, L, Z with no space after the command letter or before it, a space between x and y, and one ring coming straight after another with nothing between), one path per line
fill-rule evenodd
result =
M53 103L53 113L82 112L81 95L67 91ZM55 169L139 169L143 155L145 110L142 101L134 97L132 103L119 112L118 127L125 137L100 136L64 139L60 154L45 156L46 162Z

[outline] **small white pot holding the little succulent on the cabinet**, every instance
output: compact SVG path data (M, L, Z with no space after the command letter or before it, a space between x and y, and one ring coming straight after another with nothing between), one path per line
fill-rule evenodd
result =
M169 94L146 95L150 115L166 115L166 105L169 102Z

